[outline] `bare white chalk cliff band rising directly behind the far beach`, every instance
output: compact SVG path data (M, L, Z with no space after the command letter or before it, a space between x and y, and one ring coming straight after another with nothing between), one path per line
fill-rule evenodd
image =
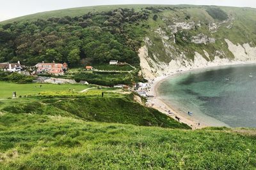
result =
M149 41L148 38L146 38ZM176 59L171 60L169 63L160 62L156 58L151 59L148 56L148 47L144 45L139 50L140 66L143 77L147 80L162 76L163 74L173 74L179 71L188 71L189 69L213 67L213 66L226 66L232 64L243 64L256 62L256 47L250 46L249 43L243 45L235 45L228 39L225 39L228 45L228 50L234 55L234 59L227 59L221 57L221 52L216 51L214 60L207 61L200 53L195 52L194 60L188 60L186 57L180 55ZM203 42L204 43L204 42ZM149 47L150 48L150 47ZM209 53L204 51L206 57L210 57Z

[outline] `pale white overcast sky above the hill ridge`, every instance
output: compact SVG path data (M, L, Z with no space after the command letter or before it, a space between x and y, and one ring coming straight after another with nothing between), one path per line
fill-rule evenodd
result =
M0 21L42 11L105 4L205 4L256 8L256 0L1 0Z

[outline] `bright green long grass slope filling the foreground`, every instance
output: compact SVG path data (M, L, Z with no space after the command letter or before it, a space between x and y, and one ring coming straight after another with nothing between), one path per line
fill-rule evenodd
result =
M185 131L6 114L0 169L254 169L256 139L226 131ZM245 131L245 130L244 130Z

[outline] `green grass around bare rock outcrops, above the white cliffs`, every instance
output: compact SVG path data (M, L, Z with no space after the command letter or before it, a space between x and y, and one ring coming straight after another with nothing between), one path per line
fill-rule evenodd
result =
M147 29L146 36L150 38L150 41L153 43L152 46L148 46L149 55L152 57L153 54L155 54L157 59L160 61L170 62L170 60L175 59L175 57L171 57L172 54L179 56L180 53L184 52L188 59L193 60L195 52L199 52L205 57L205 59L207 59L203 51L205 50L210 54L211 60L213 60L213 56L216 55L215 52L218 50L220 52L224 52L225 57L232 59L234 55L232 55L228 50L225 38L229 39L234 44L250 43L251 46L256 46L255 9L223 6L218 7L225 11L230 18L234 18L234 20L232 22L228 21L225 24L221 24L217 32L211 32L209 31L209 23L215 22L216 24L220 24L220 21L214 20L214 18L207 13L207 8L210 8L210 6L189 6L188 8L183 8L181 10L165 10L160 13L152 13L150 18L156 14L158 15L158 19L156 21L149 19L147 22L147 24L150 25L150 29ZM190 16L190 18L186 20L186 16ZM180 30L178 34L180 35L182 43L173 43L173 38L170 38L169 40L164 41L175 49L166 48L166 46L163 45L161 36L159 36L155 31L161 27L163 31L166 31L167 36L172 37L172 33L170 29L168 29L168 25L173 25L173 22L195 22L196 24L200 22L201 27L198 27L197 30ZM232 24L232 28L227 29L227 26L230 24ZM200 33L204 33L208 37L216 39L216 43L208 43L207 45L191 43L191 37ZM179 36L176 36L176 41L177 37ZM186 41L182 39L184 37L186 37ZM154 57L152 57L152 59L154 59Z

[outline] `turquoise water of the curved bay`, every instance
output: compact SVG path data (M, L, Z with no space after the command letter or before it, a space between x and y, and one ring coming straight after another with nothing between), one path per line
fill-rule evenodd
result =
M159 96L180 113L192 111L198 122L256 127L256 65L191 71L170 77Z

